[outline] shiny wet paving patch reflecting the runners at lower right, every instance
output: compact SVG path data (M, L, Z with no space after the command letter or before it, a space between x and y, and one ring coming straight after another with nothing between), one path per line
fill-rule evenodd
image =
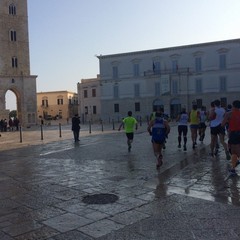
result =
M158 175L157 198L180 194L240 206L240 177L229 177L228 162L197 152ZM203 164L202 164L203 163Z

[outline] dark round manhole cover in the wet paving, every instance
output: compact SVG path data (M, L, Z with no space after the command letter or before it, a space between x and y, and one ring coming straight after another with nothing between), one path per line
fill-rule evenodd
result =
M99 193L83 197L83 202L87 204L108 204L118 200L118 196L108 193Z

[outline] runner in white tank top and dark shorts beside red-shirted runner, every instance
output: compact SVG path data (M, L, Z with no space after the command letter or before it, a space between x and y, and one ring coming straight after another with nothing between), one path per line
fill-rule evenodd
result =
M210 127L210 129L211 129L210 130L211 131L211 143L210 143L211 152L210 152L210 155L212 157L216 156L215 153L217 152L217 149L216 149L217 137L219 137L219 141L224 148L226 158L227 158L227 160L230 160L231 156L228 151L227 143L224 140L225 126L222 127L222 122L223 122L226 111L224 108L221 107L219 100L214 101L214 106L215 106L214 110L212 110L211 114L210 114L210 121L211 121L211 127Z

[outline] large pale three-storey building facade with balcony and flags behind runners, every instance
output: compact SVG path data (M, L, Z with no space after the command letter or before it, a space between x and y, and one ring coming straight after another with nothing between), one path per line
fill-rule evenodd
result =
M131 110L147 119L157 107L176 117L192 103L223 106L240 98L240 39L98 56L101 119Z

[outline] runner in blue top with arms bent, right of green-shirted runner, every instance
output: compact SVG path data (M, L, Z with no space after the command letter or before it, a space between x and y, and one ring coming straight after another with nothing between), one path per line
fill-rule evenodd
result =
M166 136L170 132L170 126L168 121L164 119L163 112L156 112L155 118L150 121L147 130L152 136L153 152L157 159L156 168L160 169L163 164L162 148L164 146Z

